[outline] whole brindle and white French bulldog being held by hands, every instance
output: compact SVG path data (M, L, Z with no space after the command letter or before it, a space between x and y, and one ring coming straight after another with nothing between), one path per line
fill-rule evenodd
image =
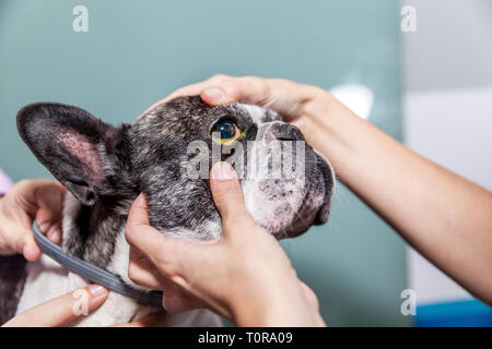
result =
M288 147L292 156L303 155L303 164L283 166L302 168L304 176L262 176L276 170L276 152L269 147L274 142L305 143L301 131L272 110L239 103L209 106L199 96L188 96L157 105L118 128L78 107L52 103L24 107L16 121L36 158L68 189L62 249L133 288L142 289L128 277L124 232L131 203L144 193L151 225L166 236L220 239L221 217L208 179L214 160L235 156L246 207L276 238L298 236L329 218L335 171L309 145ZM221 153L213 159L218 146ZM253 176L251 166L244 165L246 159L253 164L253 149L265 151L267 163L256 171L260 176ZM87 282L45 255L34 263L21 256L2 257L0 323ZM94 313L71 325L113 325L155 311L112 291ZM164 317L165 326L220 325L219 317L206 310Z

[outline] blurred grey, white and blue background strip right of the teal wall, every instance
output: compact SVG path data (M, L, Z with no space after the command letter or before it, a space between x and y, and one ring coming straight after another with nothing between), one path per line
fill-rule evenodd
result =
M417 32L402 36L405 141L492 190L492 1L405 3L417 10ZM417 325L492 326L491 308L411 249L408 273Z

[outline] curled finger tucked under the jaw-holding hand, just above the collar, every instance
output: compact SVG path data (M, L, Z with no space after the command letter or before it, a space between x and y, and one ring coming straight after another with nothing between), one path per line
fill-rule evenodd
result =
M162 290L161 273L145 255L134 248L130 248L128 277L137 285L153 290Z

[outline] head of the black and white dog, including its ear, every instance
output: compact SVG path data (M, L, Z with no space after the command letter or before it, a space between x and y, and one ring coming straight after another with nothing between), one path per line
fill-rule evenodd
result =
M19 112L17 128L83 205L107 204L125 214L143 192L152 226L169 236L220 238L208 179L218 160L234 165L247 209L277 238L329 216L331 166L298 129L260 107L180 97L114 128L77 107L34 104Z

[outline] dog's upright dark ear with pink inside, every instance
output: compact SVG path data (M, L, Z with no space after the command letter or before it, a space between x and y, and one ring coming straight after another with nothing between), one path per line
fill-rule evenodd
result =
M28 105L17 113L21 137L84 205L93 205L107 188L107 173L120 129L87 111L61 104Z

